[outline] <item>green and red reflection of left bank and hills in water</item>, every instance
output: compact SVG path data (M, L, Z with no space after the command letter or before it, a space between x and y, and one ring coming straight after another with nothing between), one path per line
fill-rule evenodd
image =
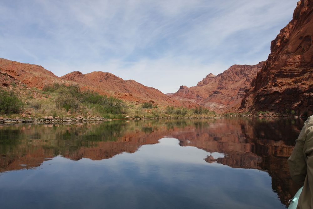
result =
M33 168L57 155L101 160L134 153L141 145L157 143L167 132L162 126L152 128L151 123L128 121L0 126L0 172Z

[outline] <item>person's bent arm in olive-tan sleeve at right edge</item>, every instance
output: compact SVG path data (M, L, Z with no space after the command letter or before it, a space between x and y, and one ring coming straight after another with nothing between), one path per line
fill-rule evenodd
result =
M304 154L304 144L306 136L309 133L309 123L313 120L313 117L309 117L296 140L295 148L292 151L290 158L288 159L288 165L292 179L303 186L305 176L307 174L306 156Z

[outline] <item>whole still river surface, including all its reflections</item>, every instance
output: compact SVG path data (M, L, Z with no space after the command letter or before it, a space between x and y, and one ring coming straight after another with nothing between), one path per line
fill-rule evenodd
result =
M0 125L0 208L285 208L301 119Z

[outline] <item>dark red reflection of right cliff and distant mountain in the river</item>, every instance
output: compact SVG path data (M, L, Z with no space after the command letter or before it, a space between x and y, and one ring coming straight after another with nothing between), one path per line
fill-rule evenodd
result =
M283 204L300 188L290 177L287 159L302 128L301 120L217 120L208 126L195 124L172 136L181 146L195 146L208 152L222 152L227 156L213 159L233 168L265 170L272 177L272 189Z

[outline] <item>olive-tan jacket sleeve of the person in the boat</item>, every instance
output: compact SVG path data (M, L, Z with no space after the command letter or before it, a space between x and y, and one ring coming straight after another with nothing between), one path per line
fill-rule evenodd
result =
M312 125L313 116L304 122L304 126L296 140L295 148L288 159L292 179L302 186L307 175L307 156L312 155L313 150Z

